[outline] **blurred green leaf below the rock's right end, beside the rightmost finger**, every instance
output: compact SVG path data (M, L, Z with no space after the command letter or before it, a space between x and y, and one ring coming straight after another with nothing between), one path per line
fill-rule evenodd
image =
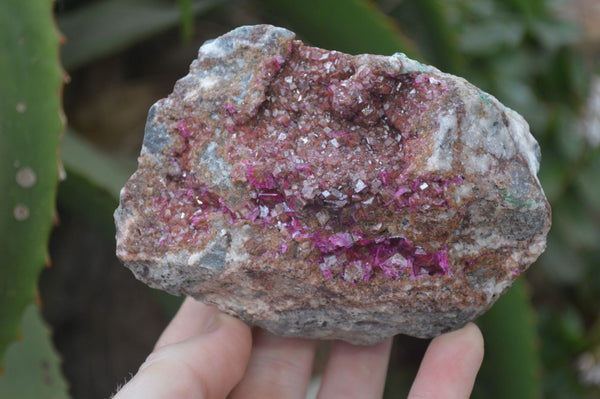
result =
M478 324L485 339L485 358L472 397L539 398L539 342L525 281L515 281Z

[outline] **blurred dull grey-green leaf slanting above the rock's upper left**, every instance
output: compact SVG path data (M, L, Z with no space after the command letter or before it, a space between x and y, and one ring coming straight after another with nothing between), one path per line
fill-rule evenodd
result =
M190 13L206 12L222 2L195 0L190 3ZM62 50L63 63L68 70L76 69L171 28L181 18L189 20L185 12L182 17L176 4L162 1L107 0L92 3L58 18L58 25L67 37Z

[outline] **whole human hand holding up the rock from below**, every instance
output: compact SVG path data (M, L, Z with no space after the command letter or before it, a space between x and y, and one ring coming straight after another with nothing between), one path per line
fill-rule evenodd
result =
M336 341L318 398L380 398L391 342L368 347ZM188 298L114 399L304 399L315 349L314 340L260 329L252 336L240 320ZM482 359L483 338L472 323L435 338L409 399L468 398Z

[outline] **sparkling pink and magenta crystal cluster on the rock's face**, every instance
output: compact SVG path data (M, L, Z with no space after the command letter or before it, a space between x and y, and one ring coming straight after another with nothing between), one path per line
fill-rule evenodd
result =
M424 74L395 76L360 66L350 57L293 42L287 62L266 64L277 74L256 117L236 121L223 105L231 138L221 156L233 165L234 184L252 187L233 209L194 173L193 148L212 132L193 118L177 121L171 157L174 176L154 200L162 218L159 246L194 244L225 213L231 223L257 223L279 230L279 252L308 241L326 278L356 283L374 274L448 274L447 249L427 251L402 235L390 235L378 208L399 211L448 207L448 190L462 177L406 170L403 143L419 140L420 120L435 116L446 88ZM368 225L369 229L357 228Z

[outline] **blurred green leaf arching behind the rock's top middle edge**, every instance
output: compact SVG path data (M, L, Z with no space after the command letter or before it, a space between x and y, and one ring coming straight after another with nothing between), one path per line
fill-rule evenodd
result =
M315 46L350 54L404 52L415 47L377 7L366 0L262 0L276 17Z

